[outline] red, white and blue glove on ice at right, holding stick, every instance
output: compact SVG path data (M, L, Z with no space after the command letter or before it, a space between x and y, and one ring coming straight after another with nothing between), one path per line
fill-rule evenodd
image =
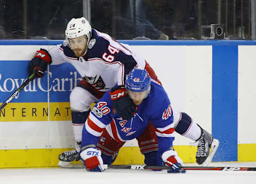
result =
M168 173L186 173L186 170L181 168L184 165L183 161L173 148L164 152L162 159L170 167L170 170L167 170Z

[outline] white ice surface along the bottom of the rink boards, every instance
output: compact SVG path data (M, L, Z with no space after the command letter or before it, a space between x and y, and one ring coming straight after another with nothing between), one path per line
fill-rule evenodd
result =
M185 164L196 166L196 164ZM209 166L250 166L256 162L217 162ZM166 171L108 169L102 173L87 172L85 169L34 168L0 169L0 183L118 183L118 184L200 184L200 183L256 183L256 171L187 171L185 174Z

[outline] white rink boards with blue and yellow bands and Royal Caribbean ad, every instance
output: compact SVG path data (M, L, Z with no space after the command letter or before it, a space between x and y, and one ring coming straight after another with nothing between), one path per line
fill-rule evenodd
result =
M27 65L37 49L60 43L1 40L0 102L28 77ZM153 67L174 110L186 112L220 140L213 161L256 161L255 41L122 43L132 45ZM51 65L44 78L31 82L0 112L1 168L53 166L59 153L73 147L69 94L79 80L73 66ZM190 142L176 134L175 149L184 162L195 162L196 147ZM127 142L116 164L143 162L137 146L135 140Z

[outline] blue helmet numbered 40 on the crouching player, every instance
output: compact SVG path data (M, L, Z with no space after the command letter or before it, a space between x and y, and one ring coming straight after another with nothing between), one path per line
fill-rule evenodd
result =
M146 70L132 69L125 81L125 88L134 91L142 92L150 87L150 77Z

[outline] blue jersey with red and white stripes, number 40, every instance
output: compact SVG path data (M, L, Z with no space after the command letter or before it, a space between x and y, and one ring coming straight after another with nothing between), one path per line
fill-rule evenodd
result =
M163 87L153 79L151 81L150 93L137 106L137 113L131 120L124 120L114 114L110 94L105 93L85 122L82 147L97 145L104 128L118 142L134 139L141 135L151 121L156 128L158 152L163 153L169 149L174 140L172 107Z

